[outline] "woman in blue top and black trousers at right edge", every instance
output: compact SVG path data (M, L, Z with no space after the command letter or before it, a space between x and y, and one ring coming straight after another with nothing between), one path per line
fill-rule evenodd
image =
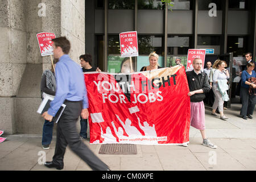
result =
M251 61L246 65L247 70L244 70L241 75L241 100L242 109L240 115L243 119L253 119L253 111L256 103L255 89L256 89L256 73L254 71L255 64ZM254 82L253 82L254 80Z

